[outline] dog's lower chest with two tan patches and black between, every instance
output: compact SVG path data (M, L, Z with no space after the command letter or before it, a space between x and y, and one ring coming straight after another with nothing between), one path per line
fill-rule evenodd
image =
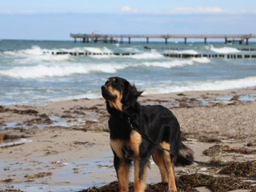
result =
M118 158L134 158L139 156L139 146L142 136L136 130L132 130L128 140L110 139L110 146Z

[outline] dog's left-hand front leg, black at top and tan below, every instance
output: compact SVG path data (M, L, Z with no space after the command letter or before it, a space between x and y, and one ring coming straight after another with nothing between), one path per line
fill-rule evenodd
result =
M114 154L114 168L118 176L120 192L128 192L130 163Z

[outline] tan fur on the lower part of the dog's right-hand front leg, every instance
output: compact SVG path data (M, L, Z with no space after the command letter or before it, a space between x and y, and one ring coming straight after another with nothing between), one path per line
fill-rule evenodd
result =
M144 192L146 188L146 167L144 166L142 179L139 179L139 162L134 160L134 192Z

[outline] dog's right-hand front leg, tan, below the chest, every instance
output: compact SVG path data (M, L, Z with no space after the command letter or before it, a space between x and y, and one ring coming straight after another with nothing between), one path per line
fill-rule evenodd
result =
M148 161L134 160L134 191L144 192L146 188L146 167Z

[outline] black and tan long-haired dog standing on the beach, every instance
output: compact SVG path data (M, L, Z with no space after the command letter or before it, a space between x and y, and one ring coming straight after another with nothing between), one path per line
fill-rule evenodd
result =
M177 191L174 165L188 166L194 160L193 151L182 143L177 118L164 106L140 105L138 97L143 91L124 78L108 78L101 88L110 114L110 146L119 191L128 191L131 162L134 163L134 191L145 191L146 168L151 156L162 182L168 183L168 192Z

